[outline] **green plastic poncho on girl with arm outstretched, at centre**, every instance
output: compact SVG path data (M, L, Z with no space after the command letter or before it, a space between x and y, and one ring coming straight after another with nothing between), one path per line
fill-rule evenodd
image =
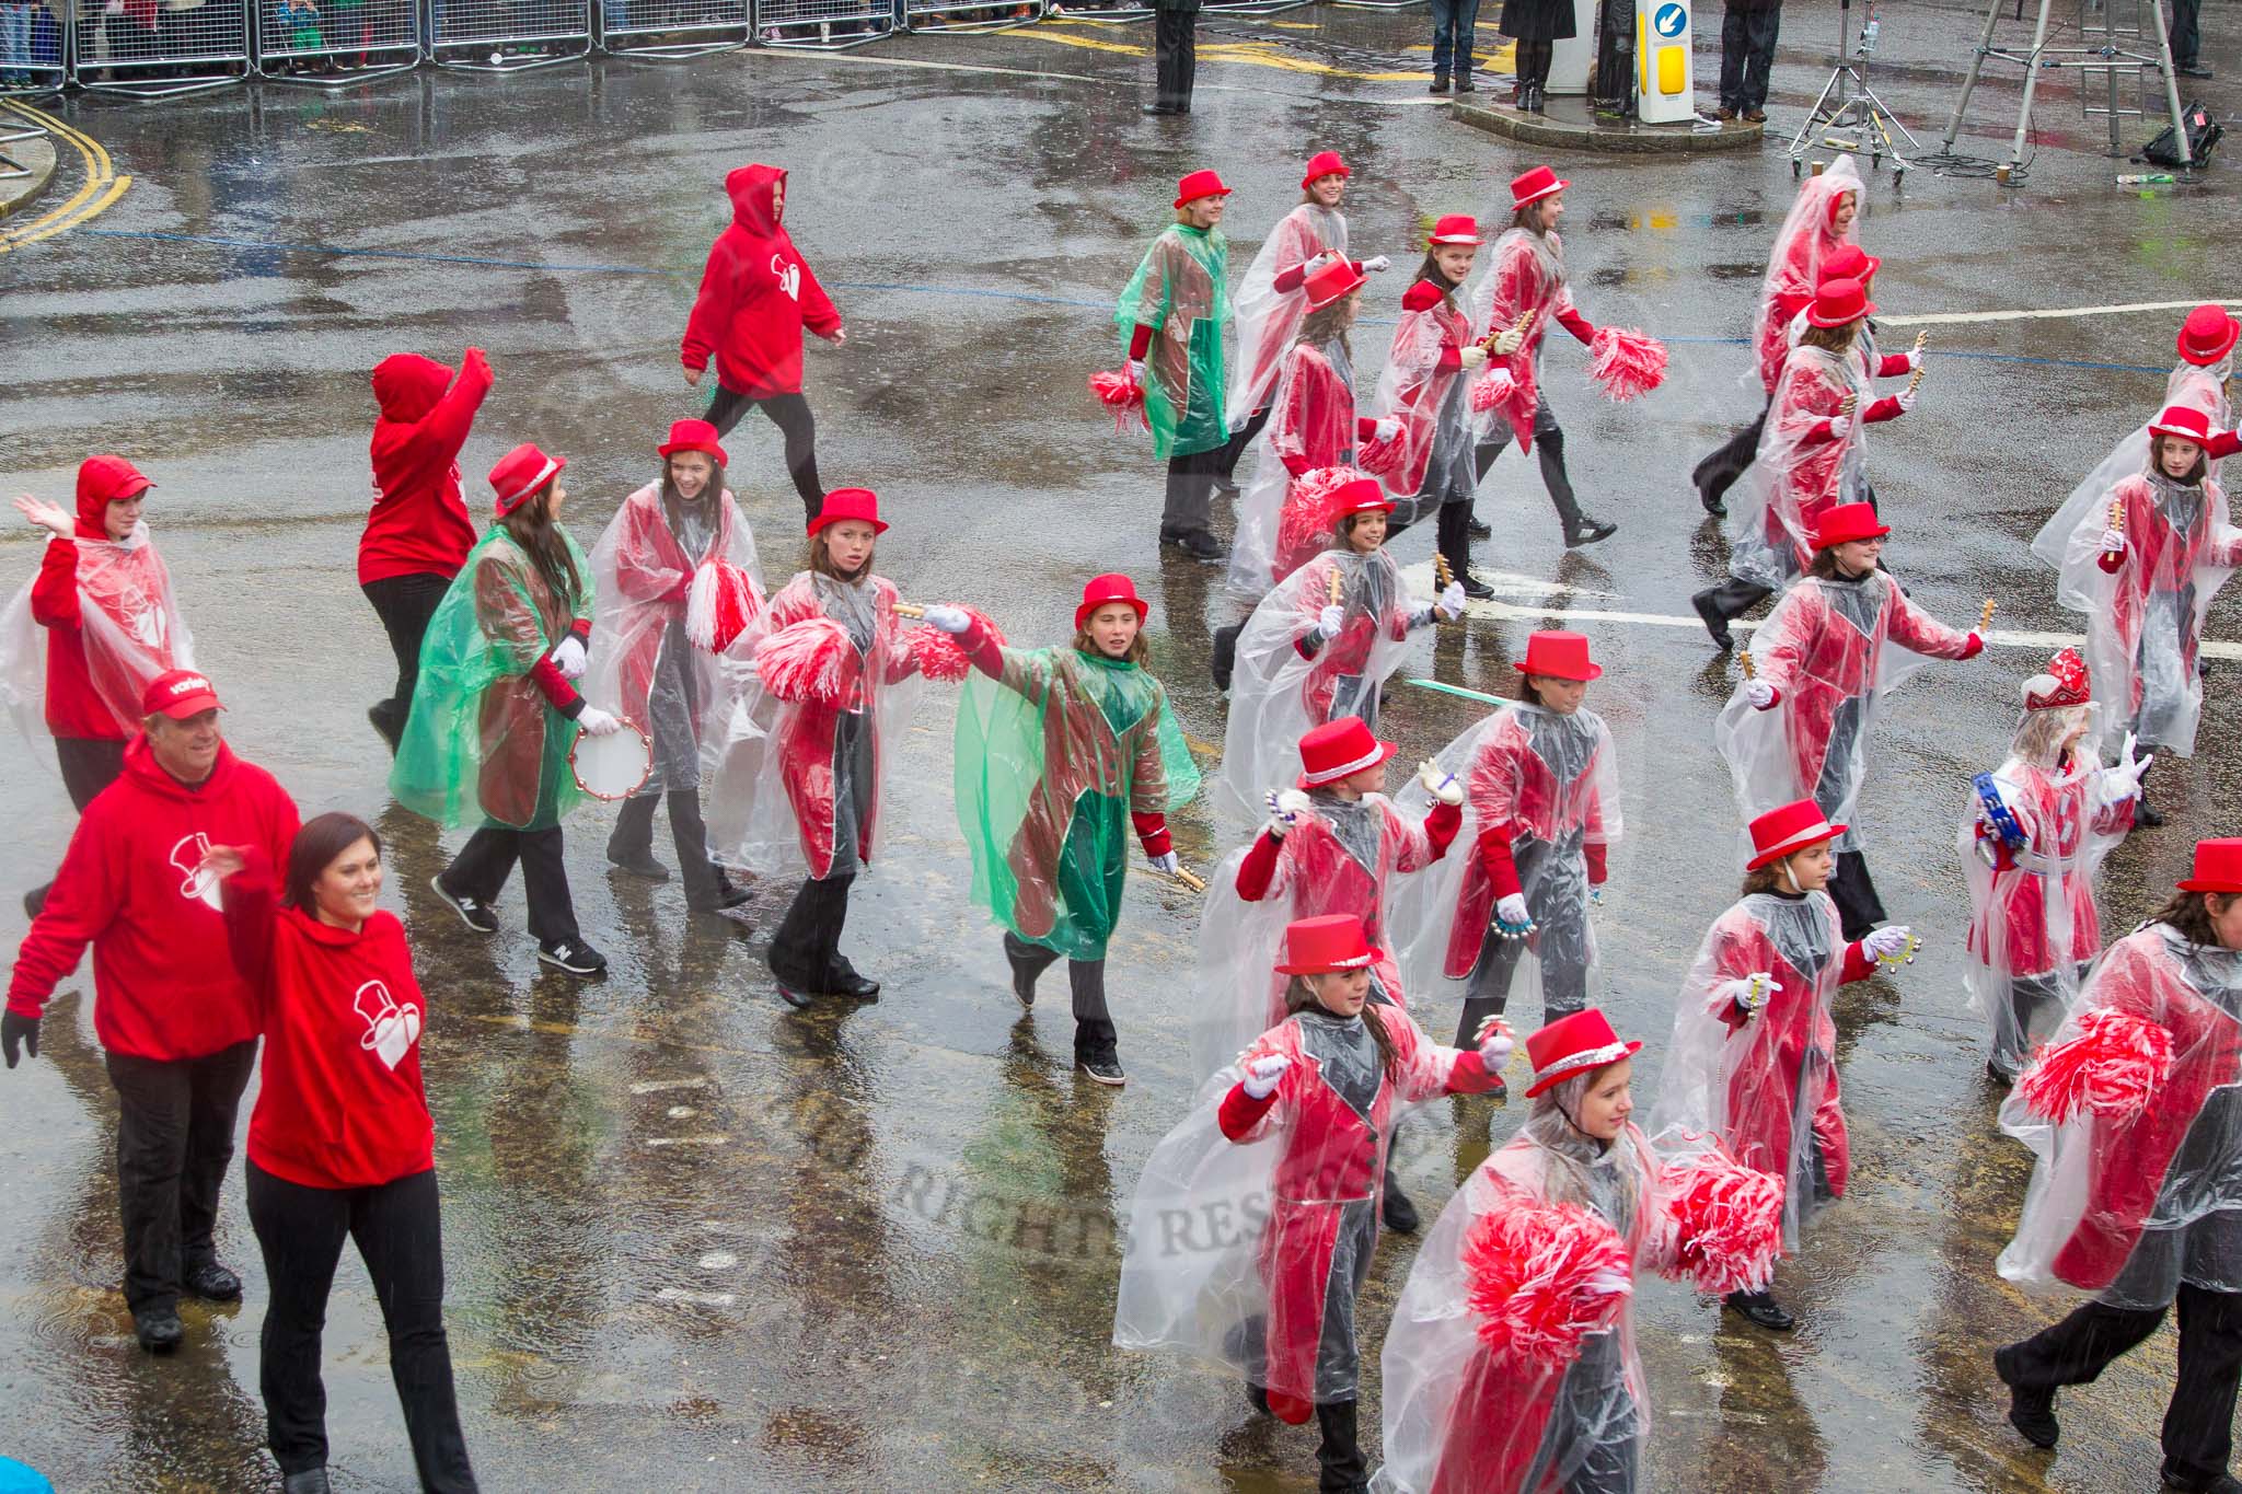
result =
M1128 661L1007 647L1002 681L966 681L955 764L973 900L1029 943L1105 959L1130 815L1199 788L1168 692Z

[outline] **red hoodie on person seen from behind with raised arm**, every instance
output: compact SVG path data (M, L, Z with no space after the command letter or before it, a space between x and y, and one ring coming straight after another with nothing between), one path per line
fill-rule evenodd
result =
M491 392L491 365L466 349L460 383L435 358L390 354L374 365L374 506L359 535L359 585L390 576L457 576L475 549L475 522L460 502L460 448Z

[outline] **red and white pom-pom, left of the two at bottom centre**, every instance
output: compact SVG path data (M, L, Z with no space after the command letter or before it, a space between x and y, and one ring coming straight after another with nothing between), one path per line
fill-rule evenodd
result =
M1536 1369L1563 1369L1608 1328L1632 1290L1628 1245L1576 1203L1484 1214L1464 1236L1464 1306L1480 1342Z

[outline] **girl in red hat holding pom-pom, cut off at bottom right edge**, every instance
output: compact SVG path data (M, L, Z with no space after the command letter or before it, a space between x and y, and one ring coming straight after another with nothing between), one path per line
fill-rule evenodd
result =
M2242 840L2094 968L2078 1006L2000 1107L2038 1154L2000 1274L2094 1299L1993 1353L2009 1422L2054 1447L2056 1391L2085 1384L2179 1304L2164 1487L2231 1490L2242 1380Z

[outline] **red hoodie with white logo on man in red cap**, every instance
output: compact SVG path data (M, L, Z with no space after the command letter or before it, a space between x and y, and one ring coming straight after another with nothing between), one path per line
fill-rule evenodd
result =
M132 1057L204 1057L258 1035L247 981L220 956L217 883L195 876L213 844L285 865L296 804L274 775L217 748L195 788L164 773L146 737L78 815L47 907L16 952L7 1006L38 1017L94 945L94 1035Z

